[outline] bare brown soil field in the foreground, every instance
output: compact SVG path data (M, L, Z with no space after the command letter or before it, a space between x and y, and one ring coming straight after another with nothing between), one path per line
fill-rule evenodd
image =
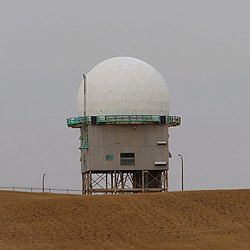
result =
M250 249L250 189L0 192L1 249Z

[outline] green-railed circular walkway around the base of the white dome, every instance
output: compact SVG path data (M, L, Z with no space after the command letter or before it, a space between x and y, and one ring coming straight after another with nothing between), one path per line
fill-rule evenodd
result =
M169 127L180 126L181 117L159 115L105 115L105 116L78 116L67 119L67 125L71 128L82 128L83 125L107 125L107 124L167 124Z

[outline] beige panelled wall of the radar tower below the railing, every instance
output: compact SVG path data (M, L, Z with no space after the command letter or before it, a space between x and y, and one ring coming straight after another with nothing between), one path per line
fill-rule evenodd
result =
M89 126L88 138L89 149L85 164L82 160L82 172L168 169L167 125ZM167 144L157 145L158 141ZM135 153L135 165L120 165L120 153ZM113 156L113 160L107 160L107 155ZM155 166L155 161L165 161L167 165Z

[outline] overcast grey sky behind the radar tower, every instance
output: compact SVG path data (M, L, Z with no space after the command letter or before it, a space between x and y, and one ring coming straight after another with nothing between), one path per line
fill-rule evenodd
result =
M76 94L102 60L152 64L171 91L170 190L249 188L250 1L0 0L0 185L80 188Z

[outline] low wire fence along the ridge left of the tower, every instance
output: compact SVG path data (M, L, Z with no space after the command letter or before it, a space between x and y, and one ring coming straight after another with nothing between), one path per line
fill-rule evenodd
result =
M37 188L37 187L16 187L0 186L0 191L16 191L16 192L34 192L34 193L55 193L55 194L82 194L80 189L63 189L63 188Z

